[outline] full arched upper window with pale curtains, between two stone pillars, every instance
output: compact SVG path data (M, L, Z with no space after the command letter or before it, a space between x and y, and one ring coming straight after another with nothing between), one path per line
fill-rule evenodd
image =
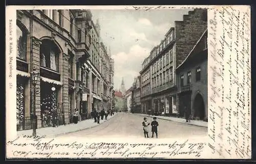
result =
M42 40L40 46L40 66L58 71L59 53L60 51L53 41L48 39Z

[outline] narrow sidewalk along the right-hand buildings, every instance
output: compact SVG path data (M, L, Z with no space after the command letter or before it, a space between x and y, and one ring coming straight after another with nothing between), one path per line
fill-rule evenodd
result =
M196 125L196 126L203 126L203 127L208 127L208 122L206 121L200 121L200 120L190 120L190 122L186 122L185 119L183 118L177 118L177 117L167 117L167 116L148 116L145 114L135 114L135 115L140 115L140 116L146 116L146 117L156 117L158 119L163 119L163 120L169 120L169 121L175 121L179 123L184 123L184 124L189 124L189 125Z

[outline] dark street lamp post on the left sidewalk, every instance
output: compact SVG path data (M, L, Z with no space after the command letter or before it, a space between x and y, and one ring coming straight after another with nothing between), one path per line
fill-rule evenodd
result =
M32 110L31 110L31 119L32 119L32 128L33 128L33 136L36 136L36 121L37 121L37 117L35 114L35 89L36 89L36 83L37 80L39 78L39 72L37 72L35 69L33 69L33 71L31 72L31 82L32 82L32 95L33 95L33 99L32 99Z

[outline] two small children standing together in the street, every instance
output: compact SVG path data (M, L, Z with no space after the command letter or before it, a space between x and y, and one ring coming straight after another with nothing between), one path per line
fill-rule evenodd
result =
M152 138L154 138L154 133L156 133L156 138L158 138L158 134L157 134L157 127L158 127L158 122L157 122L157 118L153 117L153 121L147 122L147 118L144 117L144 121L142 122L142 126L143 126L143 132L144 132L144 136L145 138L149 138L148 137L148 133L150 132L150 125L151 125L151 131L152 131Z

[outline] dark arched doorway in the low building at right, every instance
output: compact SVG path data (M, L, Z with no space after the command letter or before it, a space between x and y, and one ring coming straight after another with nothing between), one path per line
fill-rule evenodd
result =
M203 120L205 117L205 109L204 109L204 100L201 94L197 94L194 103L193 103L193 109L194 109L194 117L199 118L200 120Z

